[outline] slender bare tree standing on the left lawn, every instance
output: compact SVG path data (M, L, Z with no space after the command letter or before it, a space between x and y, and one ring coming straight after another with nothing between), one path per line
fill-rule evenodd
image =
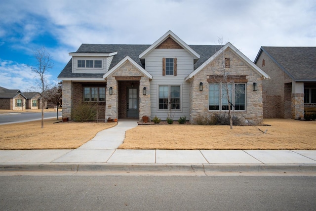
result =
M34 51L34 57L37 60L36 67L31 66L31 72L37 75L38 79L38 87L41 89L41 128L44 127L44 93L47 90L48 83L46 79L46 71L47 69L51 69L53 67L53 63L51 61L51 57L45 47L36 49Z

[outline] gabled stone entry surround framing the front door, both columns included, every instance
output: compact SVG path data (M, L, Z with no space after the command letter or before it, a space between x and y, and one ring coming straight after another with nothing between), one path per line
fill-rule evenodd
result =
M118 68L112 75L107 78L107 96L106 96L106 109L105 119L109 117L112 119L118 118L118 81L115 77L141 77L139 81L139 119L142 116L150 116L150 95L143 95L143 87L149 91L149 79L144 76L133 64L126 61L120 68ZM109 94L109 88L113 88L113 94Z

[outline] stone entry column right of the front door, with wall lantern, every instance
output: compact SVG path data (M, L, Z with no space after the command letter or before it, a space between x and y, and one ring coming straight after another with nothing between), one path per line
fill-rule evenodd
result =
M143 94L143 88L146 87L146 95ZM148 116L151 119L151 103L150 103L150 82L145 76L139 80L139 120L143 116Z

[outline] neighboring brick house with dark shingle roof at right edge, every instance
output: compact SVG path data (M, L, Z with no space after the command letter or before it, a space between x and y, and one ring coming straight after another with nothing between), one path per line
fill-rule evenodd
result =
M263 81L263 117L302 119L316 111L316 47L261 47L254 63Z

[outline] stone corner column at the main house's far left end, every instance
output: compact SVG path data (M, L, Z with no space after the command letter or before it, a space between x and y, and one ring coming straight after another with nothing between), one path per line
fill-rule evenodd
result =
M72 107L72 100L71 100L71 93L72 93L72 85L71 81L63 81L62 84L62 118L69 118L71 119L71 107Z

